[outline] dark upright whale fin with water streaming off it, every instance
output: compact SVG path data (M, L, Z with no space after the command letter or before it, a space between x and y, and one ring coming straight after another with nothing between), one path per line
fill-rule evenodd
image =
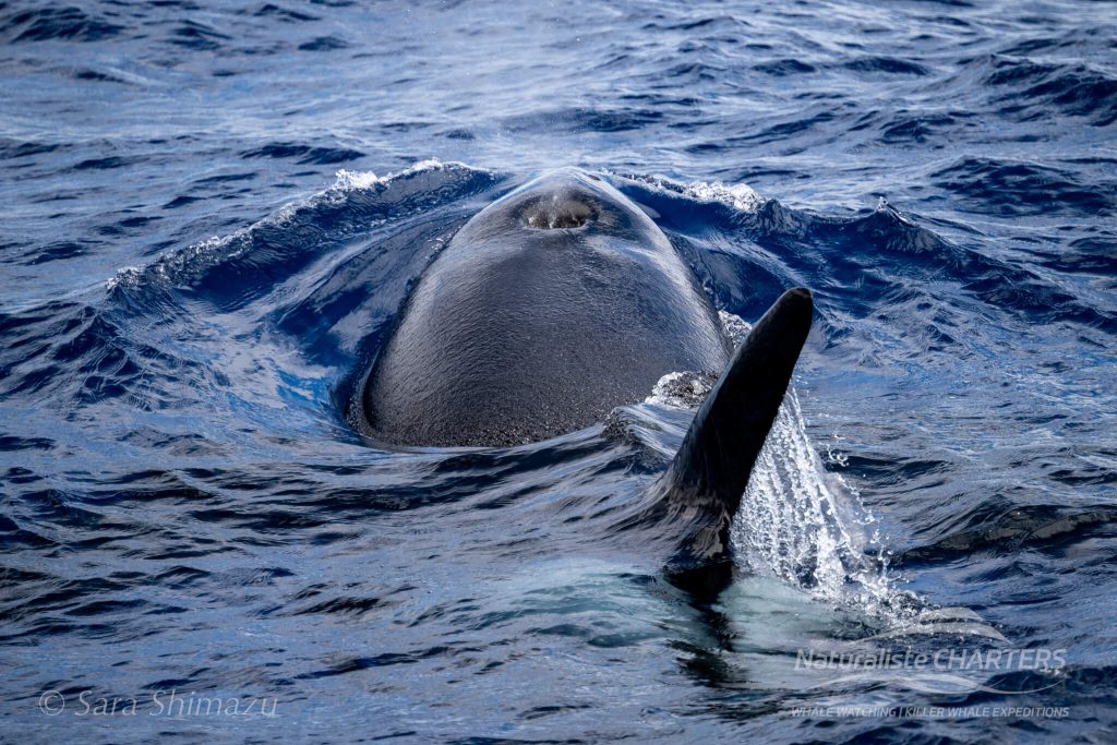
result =
M734 353L653 487L643 519L687 526L668 563L672 579L708 586L712 567L727 571L729 525L780 411L812 313L811 293L802 287L787 290L768 308Z

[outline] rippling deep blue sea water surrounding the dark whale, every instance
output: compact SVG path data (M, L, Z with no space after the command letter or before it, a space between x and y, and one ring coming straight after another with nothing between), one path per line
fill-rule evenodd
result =
M0 44L0 739L1117 738L1117 6L6 2ZM562 165L727 323L815 294L714 605L591 538L663 391L504 450L344 419L439 247ZM796 669L870 637L1066 666ZM1066 713L792 713L852 704Z

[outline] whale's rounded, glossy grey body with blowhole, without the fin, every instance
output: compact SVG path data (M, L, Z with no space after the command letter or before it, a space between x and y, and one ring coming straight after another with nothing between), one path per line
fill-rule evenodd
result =
M669 372L719 372L731 352L656 223L566 169L458 231L381 350L363 408L386 443L534 442L643 400Z

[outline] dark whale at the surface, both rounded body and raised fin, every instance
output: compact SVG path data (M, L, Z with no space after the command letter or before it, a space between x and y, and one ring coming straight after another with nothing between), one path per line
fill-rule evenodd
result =
M670 466L615 531L653 528L672 581L724 583L729 526L812 314L810 292L791 288L734 350L646 208L599 174L561 169L458 229L351 408L381 447L515 447L600 423L668 373L718 374Z

